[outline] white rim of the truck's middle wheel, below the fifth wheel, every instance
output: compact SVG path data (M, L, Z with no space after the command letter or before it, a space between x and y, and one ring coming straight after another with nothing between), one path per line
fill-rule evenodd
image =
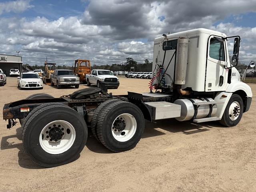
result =
M111 129L115 140L126 142L134 136L137 130L137 122L131 114L123 113L116 117Z

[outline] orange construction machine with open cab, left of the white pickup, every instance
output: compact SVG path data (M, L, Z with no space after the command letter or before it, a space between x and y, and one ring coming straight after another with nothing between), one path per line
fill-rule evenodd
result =
M90 60L77 59L75 60L74 73L80 78L80 81L86 83L86 74L91 73Z

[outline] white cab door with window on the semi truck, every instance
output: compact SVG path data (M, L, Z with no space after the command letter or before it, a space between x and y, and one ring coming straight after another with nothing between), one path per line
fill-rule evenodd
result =
M223 91L228 80L226 42L221 37L210 36L206 57L205 91Z

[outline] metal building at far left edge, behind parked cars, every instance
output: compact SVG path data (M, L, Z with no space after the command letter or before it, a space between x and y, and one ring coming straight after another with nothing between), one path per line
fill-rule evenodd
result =
M10 69L18 69L22 72L22 57L0 54L0 68L4 71L6 76L9 76Z

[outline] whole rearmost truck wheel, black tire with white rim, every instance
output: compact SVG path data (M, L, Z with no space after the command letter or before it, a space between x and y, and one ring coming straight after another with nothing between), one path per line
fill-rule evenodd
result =
M44 167L60 166L78 158L88 136L78 112L62 104L45 104L26 119L23 146Z

